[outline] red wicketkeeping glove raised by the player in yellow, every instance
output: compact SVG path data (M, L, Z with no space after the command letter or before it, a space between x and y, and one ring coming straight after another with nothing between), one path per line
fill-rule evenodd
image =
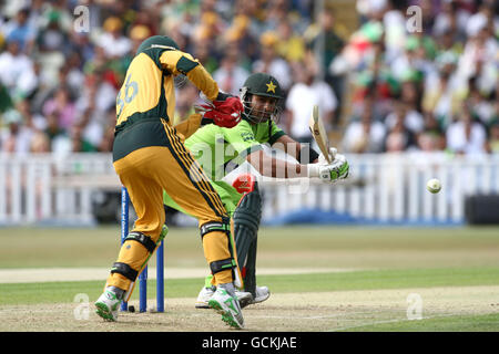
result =
M241 122L241 114L244 106L240 97L228 97L225 101L213 101L194 106L197 113L202 113L204 118L213 119L217 126L232 128Z

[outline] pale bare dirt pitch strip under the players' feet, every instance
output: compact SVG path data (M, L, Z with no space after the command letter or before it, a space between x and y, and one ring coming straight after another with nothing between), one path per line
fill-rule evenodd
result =
M249 332L337 331L405 321L410 305L408 296L419 296L424 319L499 311L499 287L456 287L272 294L266 302L243 312ZM153 306L154 301L149 305ZM92 304L0 306L0 331L218 332L231 329L214 311L194 309L194 299L166 299L164 313L121 313L115 323L103 322L93 313Z

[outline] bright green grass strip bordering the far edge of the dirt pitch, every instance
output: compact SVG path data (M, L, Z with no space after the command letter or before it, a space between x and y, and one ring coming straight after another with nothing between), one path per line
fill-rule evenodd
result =
M79 293L96 299L104 281L72 281L0 284L0 304L72 302ZM499 285L499 268L373 270L345 273L261 275L258 283L275 293L380 290L434 287ZM165 296L195 298L202 279L166 279ZM132 300L138 299L138 291ZM149 296L155 295L155 281L147 281Z

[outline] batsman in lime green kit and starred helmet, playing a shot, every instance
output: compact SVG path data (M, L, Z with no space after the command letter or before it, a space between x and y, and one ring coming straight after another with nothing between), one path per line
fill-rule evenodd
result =
M225 165L231 160L245 159L263 176L281 178L319 178L333 183L348 176L349 166L345 156L336 154L332 164L318 155L312 147L292 139L276 125L276 119L283 106L283 92L277 80L266 73L255 73L248 76L240 90L244 105L243 119L233 128L227 129L214 124L206 124L189 137L185 145L193 152L196 160L211 175L211 185L222 198L226 212L231 216L234 227L236 259L243 277L244 289L237 290L241 306L265 301L271 295L267 287L257 287L255 279L257 231L262 216L262 198L257 181L252 175L236 178L234 186L223 181ZM200 108L200 107L198 107ZM210 107L204 116L211 117ZM195 114L192 116L196 116ZM206 121L210 123L211 121ZM276 159L264 153L263 144L269 144L285 150L295 157L296 163ZM216 152L222 152L223 156ZM189 210L177 205L167 190L164 192L165 205L185 214ZM208 275L201 290L195 306L208 308L210 300L216 294L217 288L213 275ZM244 290L244 291L242 291ZM249 294L251 295L249 295Z

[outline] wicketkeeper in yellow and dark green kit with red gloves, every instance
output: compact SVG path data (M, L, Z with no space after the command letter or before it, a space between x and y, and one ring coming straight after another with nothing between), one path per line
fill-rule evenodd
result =
M215 125L230 128L241 121L240 98L221 93L203 65L180 51L172 39L154 35L141 43L118 93L113 144L113 166L128 188L138 219L95 302L96 313L116 321L120 303L130 299L136 278L164 238L165 190L198 220L204 256L217 287L208 305L222 314L224 322L242 329L230 216L183 140L197 129L201 116L172 126L174 79L182 75L210 100Z

